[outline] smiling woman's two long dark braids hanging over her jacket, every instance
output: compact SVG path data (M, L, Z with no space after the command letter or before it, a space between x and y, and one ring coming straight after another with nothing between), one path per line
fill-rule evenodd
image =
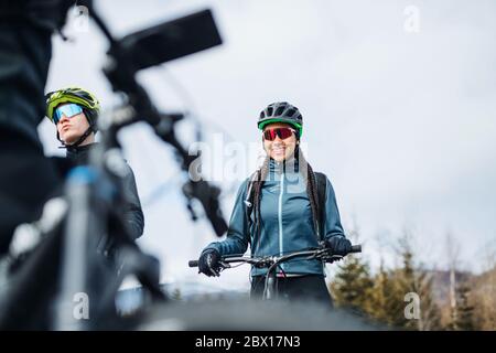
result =
M316 190L316 179L315 174L313 172L312 167L306 161L306 159L303 156L303 152L299 148L299 145L296 145L296 148L294 150L294 158L299 161L299 172L303 175L306 183L306 194L309 195L310 200L310 206L312 208L312 215L313 220L319 220L319 202L317 202L317 190ZM252 197L252 207L254 207L254 218L255 218L255 235L257 237L257 242L260 242L260 228L261 228L261 213L260 213L260 199L261 199L261 189L263 186L263 182L267 179L267 175L269 173L269 161L270 158L266 157L263 160L262 165L255 172L254 178L251 179L251 188L254 192ZM322 232L322 229L317 231L319 224L314 223L315 231ZM255 240L255 238L254 238Z

